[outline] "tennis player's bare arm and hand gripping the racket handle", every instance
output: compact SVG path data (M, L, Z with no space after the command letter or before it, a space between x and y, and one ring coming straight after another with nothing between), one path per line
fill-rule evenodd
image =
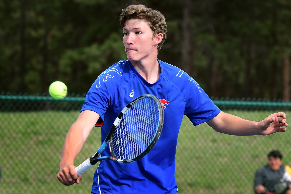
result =
M74 183L79 184L82 176L77 176L74 166L74 160L81 151L88 135L99 119L99 114L94 111L82 111L74 124L70 127L65 138L60 171L57 178L61 183L70 186Z

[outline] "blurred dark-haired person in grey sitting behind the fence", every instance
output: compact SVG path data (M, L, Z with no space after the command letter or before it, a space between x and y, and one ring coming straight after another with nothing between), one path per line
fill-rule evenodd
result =
M291 194L291 168L283 165L282 159L278 150L268 154L268 163L255 172L255 193Z

